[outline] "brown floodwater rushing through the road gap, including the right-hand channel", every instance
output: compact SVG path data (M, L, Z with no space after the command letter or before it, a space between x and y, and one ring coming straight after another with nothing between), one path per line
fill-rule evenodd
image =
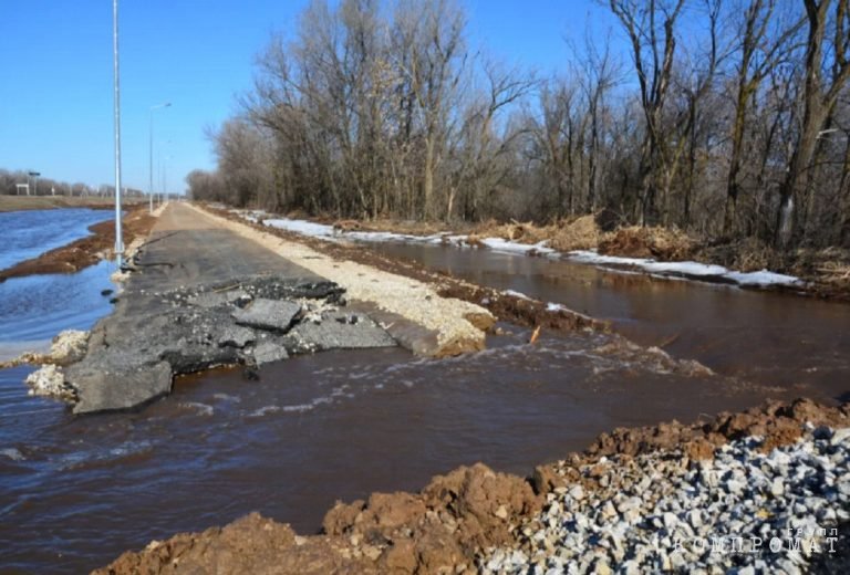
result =
M0 571L84 572L250 511L312 533L338 499L416 490L460 464L528 474L616 426L847 391L847 357L835 354L850 348L848 306L484 251L381 249L611 318L645 344L678 334L667 351L722 375L607 335L530 346L507 325L487 351L453 359L331 352L267 366L259 381L238 368L185 377L132 414L73 417L27 395L31 367L0 370ZM41 306L51 327L77 305L70 292L42 295L29 317ZM25 317L7 313L3 328L25 332Z

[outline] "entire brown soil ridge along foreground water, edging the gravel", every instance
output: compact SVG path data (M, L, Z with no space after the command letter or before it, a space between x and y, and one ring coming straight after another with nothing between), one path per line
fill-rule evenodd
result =
M711 458L715 447L749 435L764 436L768 449L792 442L806 424L848 427L850 405L798 399L692 425L616 429L568 456L566 466L538 467L530 479L476 463L435 477L418 493L338 502L320 535L300 537L252 513L224 529L153 542L95 573L475 573L476 553L512 544L517 526L541 509L547 493L577 482L597 489L607 464L680 447L692 460Z

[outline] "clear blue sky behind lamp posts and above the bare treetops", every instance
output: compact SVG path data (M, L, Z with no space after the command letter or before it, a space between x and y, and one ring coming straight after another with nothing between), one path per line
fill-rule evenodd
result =
M592 0L462 0L470 41L542 74L562 69L564 38L610 25ZM291 33L307 0L120 0L123 184L182 191L215 158L205 127L235 112L273 31ZM0 168L90 186L114 182L112 0L0 3Z

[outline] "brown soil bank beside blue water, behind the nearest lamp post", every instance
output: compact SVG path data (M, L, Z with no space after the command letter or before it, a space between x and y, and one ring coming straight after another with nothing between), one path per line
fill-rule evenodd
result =
M136 208L131 211L123 220L124 244L129 245L136 237L147 236L155 221L156 218L148 213L147 208ZM92 231L92 236L0 270L0 282L24 275L74 273L97 263L104 255L111 253L115 245L115 223L112 220L102 221L91 226L89 230Z

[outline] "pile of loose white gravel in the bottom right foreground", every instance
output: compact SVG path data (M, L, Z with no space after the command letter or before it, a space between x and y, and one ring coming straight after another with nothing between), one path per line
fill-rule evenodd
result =
M806 572L850 519L850 428L809 428L798 442L600 460L584 477L604 487L559 488L517 527L514 548L479 557L485 574ZM559 463L563 474L567 463ZM592 470L592 471L591 471ZM601 473L601 475L600 475Z

